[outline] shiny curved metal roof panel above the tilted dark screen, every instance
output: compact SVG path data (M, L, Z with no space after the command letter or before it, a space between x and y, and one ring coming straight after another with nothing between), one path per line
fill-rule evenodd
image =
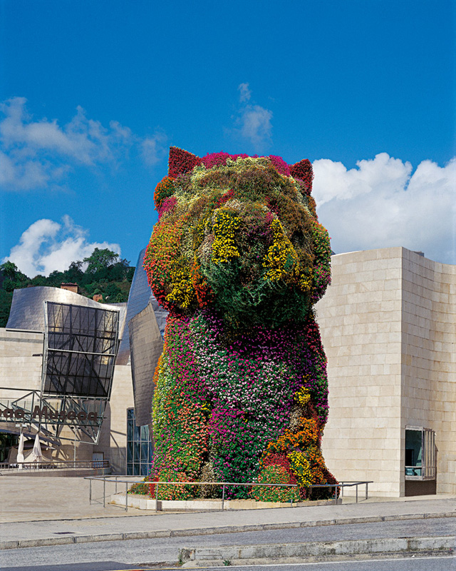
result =
M8 323L6 323L6 328L43 332L45 330L44 301L71 303L72 305L82 305L83 307L98 309L118 309L120 311L120 330L125 320L125 304L113 303L110 305L108 303L98 303L98 301L85 298L83 295L79 295L73 291L39 285L35 288L14 290L13 302L11 303L11 311L9 313Z

